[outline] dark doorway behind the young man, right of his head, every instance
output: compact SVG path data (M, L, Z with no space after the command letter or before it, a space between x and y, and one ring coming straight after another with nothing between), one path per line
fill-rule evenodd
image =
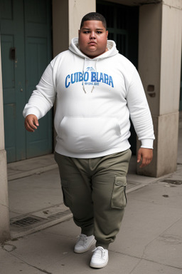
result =
M139 7L123 6L112 2L97 1L96 10L107 21L108 39L117 44L119 54L124 55L129 61L138 67L138 45L139 45ZM131 136L129 143L132 153L137 150L137 135L131 121Z

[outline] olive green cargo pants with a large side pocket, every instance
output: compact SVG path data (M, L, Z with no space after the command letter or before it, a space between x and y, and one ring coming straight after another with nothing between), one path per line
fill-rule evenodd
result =
M81 233L95 235L108 248L116 238L127 205L127 171L131 151L98 158L71 158L55 152L63 199Z

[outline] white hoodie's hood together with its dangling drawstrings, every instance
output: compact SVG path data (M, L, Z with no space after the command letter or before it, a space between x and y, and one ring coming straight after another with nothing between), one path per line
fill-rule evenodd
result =
M98 61L107 59L109 57L112 57L112 56L118 54L116 44L112 40L107 41L108 51L106 51L104 54L101 54L100 56L97 56L95 58L90 58L87 55L83 54L82 51L80 51L78 38L72 39L69 49L70 49L70 51L73 52L73 54L76 54L77 56L80 56L83 59L82 75L85 75L85 70L87 69L90 61L92 61L92 66L94 67L95 73L97 73L97 62ZM91 88L91 90L90 90L90 88ZM85 82L83 79L82 80L82 89L85 93L87 93L87 91L92 93L92 91L95 89L95 86L93 85L92 87L87 88L87 91L86 91Z

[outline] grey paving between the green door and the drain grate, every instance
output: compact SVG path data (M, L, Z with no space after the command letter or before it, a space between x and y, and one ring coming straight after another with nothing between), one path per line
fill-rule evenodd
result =
M58 168L9 181L10 218L63 203Z

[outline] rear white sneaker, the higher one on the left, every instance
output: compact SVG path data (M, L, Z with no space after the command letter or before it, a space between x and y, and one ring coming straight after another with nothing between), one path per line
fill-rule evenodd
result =
M84 253L91 248L92 245L96 243L95 237L88 236L85 234L80 234L75 244L74 252L75 253Z

